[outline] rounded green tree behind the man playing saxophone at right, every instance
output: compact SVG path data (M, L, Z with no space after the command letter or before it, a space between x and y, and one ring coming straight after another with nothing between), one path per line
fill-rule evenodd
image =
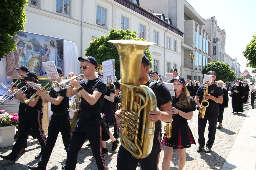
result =
M221 61L210 62L202 70L202 74L207 74L208 71L215 71L216 80L234 81L236 79L235 73L229 66Z

